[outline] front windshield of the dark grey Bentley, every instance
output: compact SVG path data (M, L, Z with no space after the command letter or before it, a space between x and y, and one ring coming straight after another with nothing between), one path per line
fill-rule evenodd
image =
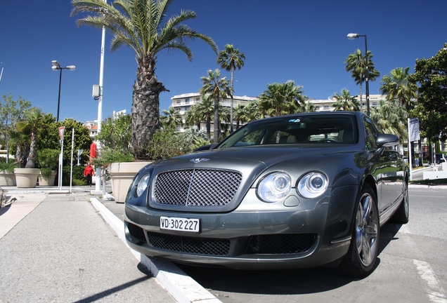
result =
M355 121L353 114L297 114L262 119L240 128L216 148L261 144L355 144L358 137Z

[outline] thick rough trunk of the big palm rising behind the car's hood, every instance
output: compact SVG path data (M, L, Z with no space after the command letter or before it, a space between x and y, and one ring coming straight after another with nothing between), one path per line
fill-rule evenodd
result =
M137 58L138 68L132 95L131 145L138 159L147 156L153 134L160 128L160 93L169 91L157 81L155 63L157 58Z

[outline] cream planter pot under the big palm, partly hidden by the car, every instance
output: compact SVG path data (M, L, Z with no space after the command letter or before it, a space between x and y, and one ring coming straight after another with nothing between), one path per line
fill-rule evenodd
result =
M124 203L132 179L134 179L138 170L149 163L150 162L121 162L110 164L110 181L112 183L113 197L117 203Z

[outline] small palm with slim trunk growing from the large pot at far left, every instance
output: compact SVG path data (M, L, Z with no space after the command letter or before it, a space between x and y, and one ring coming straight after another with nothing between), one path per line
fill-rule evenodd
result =
M42 109L33 107L26 112L26 121L18 121L15 124L15 128L20 133L30 133L30 154L28 154L28 160L25 168L34 168L37 155L37 127L44 119L44 113Z

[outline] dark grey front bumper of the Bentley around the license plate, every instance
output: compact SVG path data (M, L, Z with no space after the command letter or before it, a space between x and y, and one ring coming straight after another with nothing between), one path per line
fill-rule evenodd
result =
M127 204L127 243L144 255L233 269L317 267L340 260L351 241L357 187L338 187L298 206L273 205L249 191L230 213L174 213ZM245 201L250 201L246 202ZM200 220L200 232L160 230L160 216Z

